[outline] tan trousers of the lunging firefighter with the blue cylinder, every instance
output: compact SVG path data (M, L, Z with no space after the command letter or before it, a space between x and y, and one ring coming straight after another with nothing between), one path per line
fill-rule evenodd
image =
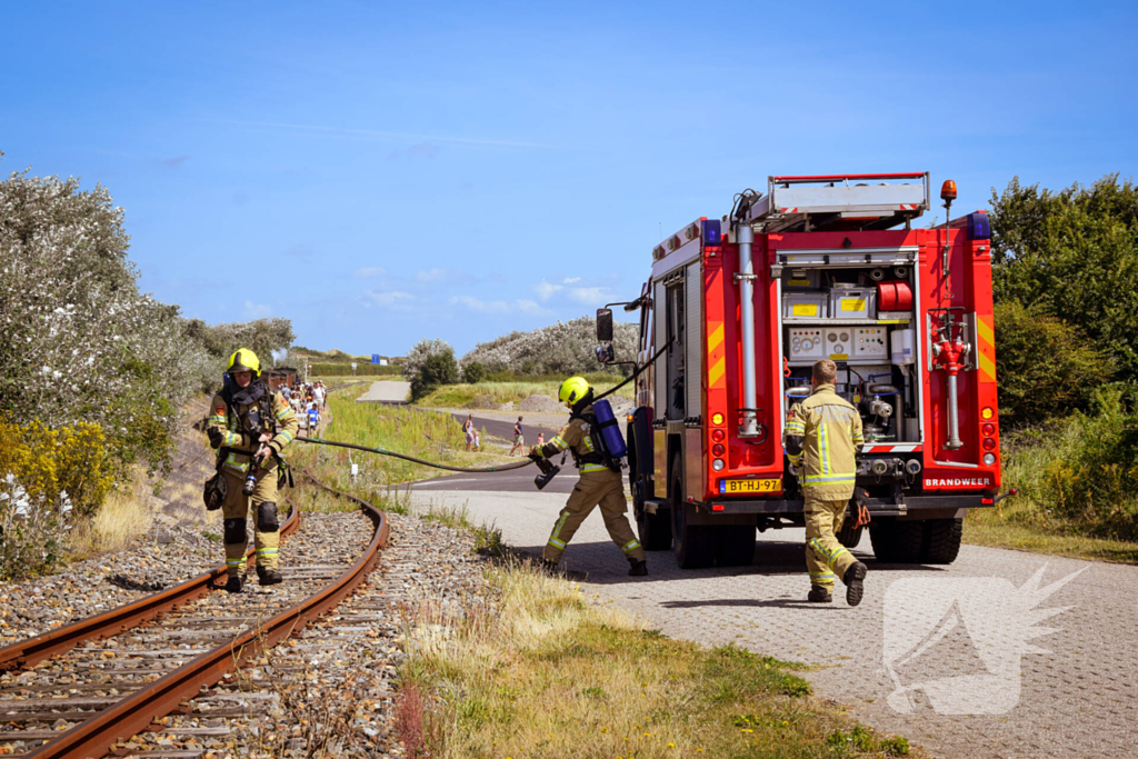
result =
M628 502L625 501L624 480L620 472L612 470L580 473L569 501L553 525L553 534L542 551L542 559L553 563L560 561L577 528L596 506L601 506L604 527L617 547L629 559L644 561L644 548L633 535L633 528L628 523Z

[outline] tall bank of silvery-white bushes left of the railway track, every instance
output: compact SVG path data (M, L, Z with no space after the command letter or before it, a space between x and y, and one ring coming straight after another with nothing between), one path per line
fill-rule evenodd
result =
M139 292L129 242L101 185L0 181L0 411L49 429L98 424L117 464L154 470L168 461L175 410L220 386L224 357L247 344L269 365L292 329L180 317Z

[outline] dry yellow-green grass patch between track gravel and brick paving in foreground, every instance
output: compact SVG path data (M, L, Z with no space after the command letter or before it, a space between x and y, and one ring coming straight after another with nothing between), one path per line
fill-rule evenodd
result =
M528 564L488 579L462 612L426 603L405 620L396 708L409 757L909 753L811 698L791 665L670 640Z

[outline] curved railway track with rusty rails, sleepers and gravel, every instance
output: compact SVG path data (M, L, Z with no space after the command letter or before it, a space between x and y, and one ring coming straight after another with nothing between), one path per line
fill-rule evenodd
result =
M358 511L305 513L291 501L282 574L269 588L212 593L224 568L118 609L0 649L0 756L101 757L137 753L123 746L170 715L208 712L212 720L249 711L248 678L234 678L246 662L348 597L376 567L389 533L386 515L347 497ZM372 529L362 529L370 522ZM351 621L351 620L349 620ZM240 680L234 700L225 680ZM223 683L222 687L211 690ZM245 706L240 706L245 704ZM216 735L226 728L180 728L184 735ZM142 756L201 756L200 751Z

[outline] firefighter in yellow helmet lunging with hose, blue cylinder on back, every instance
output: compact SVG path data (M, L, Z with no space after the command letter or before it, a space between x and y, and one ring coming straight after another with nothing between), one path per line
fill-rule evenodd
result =
M553 525L553 534L542 551L542 561L546 569L556 569L577 528L594 508L600 506L609 536L628 559L628 574L643 577L648 575L644 548L628 523L620 464L604 453L601 430L593 414L593 389L584 377L570 377L561 383L558 399L572 412L569 423L549 443L530 448L529 456L546 459L568 451L574 465L580 470L580 479Z

